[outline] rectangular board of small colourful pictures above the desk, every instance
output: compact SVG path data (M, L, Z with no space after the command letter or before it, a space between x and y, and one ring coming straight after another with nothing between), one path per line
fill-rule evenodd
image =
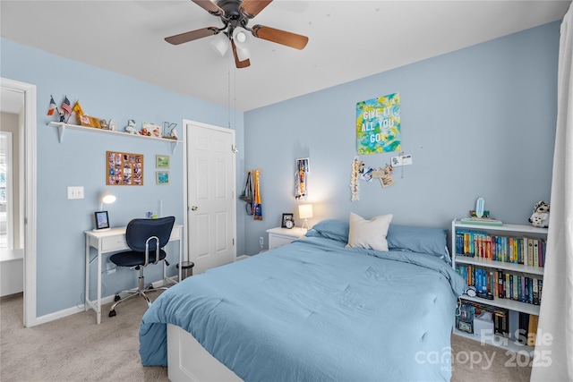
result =
M142 186L143 155L106 151L108 186Z

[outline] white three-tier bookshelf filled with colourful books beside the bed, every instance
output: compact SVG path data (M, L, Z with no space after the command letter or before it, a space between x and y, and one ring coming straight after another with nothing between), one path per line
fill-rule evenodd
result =
M452 267L466 279L468 285L474 285L478 292L492 298L464 294L460 297L461 303L474 305L478 310L497 312L497 315L493 314L496 332L501 327L509 333L523 328L523 323L519 322L521 319L535 322L543 291L546 240L547 228L533 225L475 225L454 219L451 226ZM502 320L504 324L501 324ZM519 335L526 337L534 327L529 326L527 334ZM511 335L508 337L508 334L496 333L482 338L460 330L458 325L454 328L454 334L513 352L526 351L531 354L534 350L531 343L520 343Z

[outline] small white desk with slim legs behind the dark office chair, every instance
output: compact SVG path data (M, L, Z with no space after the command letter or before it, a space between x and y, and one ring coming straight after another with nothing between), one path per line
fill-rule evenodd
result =
M84 231L86 235L86 292L85 292L85 310L93 309L97 313L97 322L101 323L101 258L104 253L116 252L119 250L129 250L127 242L125 242L125 229L126 227L112 228L108 231ZM174 225L169 242L179 242L179 263L183 261L183 225ZM98 250L98 255L94 260L98 260L98 300L90 300L90 248L93 247ZM165 268L163 270L163 278L165 280ZM181 280L181 268L178 271Z

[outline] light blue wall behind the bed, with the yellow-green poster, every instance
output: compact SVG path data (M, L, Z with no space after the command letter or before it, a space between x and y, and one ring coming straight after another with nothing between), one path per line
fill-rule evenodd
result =
M282 213L297 217L298 157L311 159L311 225L353 211L448 228L480 196L492 216L528 224L535 202L551 195L559 27L553 22L245 113L245 165L262 169L264 211L263 221L245 220L247 253L260 250L259 237L267 242L265 230L279 225ZM356 102L395 92L402 149L414 165L396 167L396 183L385 189L361 181L360 200L351 202ZM395 155L361 158L380 167Z

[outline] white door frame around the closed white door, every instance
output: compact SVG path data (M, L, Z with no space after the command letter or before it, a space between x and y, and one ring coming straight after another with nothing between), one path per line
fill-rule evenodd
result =
M189 182L189 179L187 179L187 125L188 124L192 124L194 126L198 126L198 127L203 127L206 129L212 129L218 132L228 132L232 135L233 137L233 145L236 145L236 132L233 129L229 129L227 127L221 127L221 126L216 126L214 124L209 124L209 123L201 123L201 122L197 122L197 121L192 121L190 119L184 119L183 120L183 141L184 141L184 145L183 145L183 174L185 174L185 179L184 179L184 184L183 184L183 194L184 194L184 228L185 228L185 232L187 232L189 225L189 198L187 197L187 183ZM231 149L231 148L229 148ZM236 239L236 219L237 219L237 214L236 214L236 155L235 157L233 157L233 199L234 199L234 203L233 203L233 208L235 209L235 221L233 222L233 236L235 238L235 257L236 257L236 246L237 246L237 239ZM189 260L189 248L187 246L187 241L189 240L189 238L187 237L188 235L185 235L185 240L184 240L184 259L186 261Z

